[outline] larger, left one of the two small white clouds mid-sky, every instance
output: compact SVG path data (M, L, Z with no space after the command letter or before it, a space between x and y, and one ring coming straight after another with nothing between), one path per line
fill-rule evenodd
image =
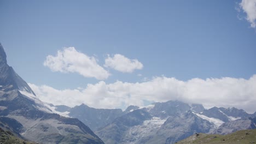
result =
M47 56L44 66L53 71L62 73L78 73L84 77L95 77L98 80L107 79L108 71L97 64L95 57L89 57L78 52L74 47L66 47L59 50L56 56Z

